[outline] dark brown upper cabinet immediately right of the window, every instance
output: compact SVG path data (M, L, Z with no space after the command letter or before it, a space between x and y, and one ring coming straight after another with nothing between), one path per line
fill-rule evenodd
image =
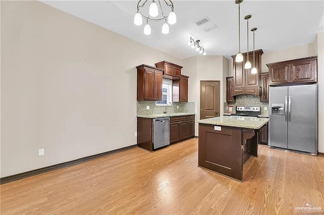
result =
M188 76L181 75L180 79L173 80L173 102L188 101Z

